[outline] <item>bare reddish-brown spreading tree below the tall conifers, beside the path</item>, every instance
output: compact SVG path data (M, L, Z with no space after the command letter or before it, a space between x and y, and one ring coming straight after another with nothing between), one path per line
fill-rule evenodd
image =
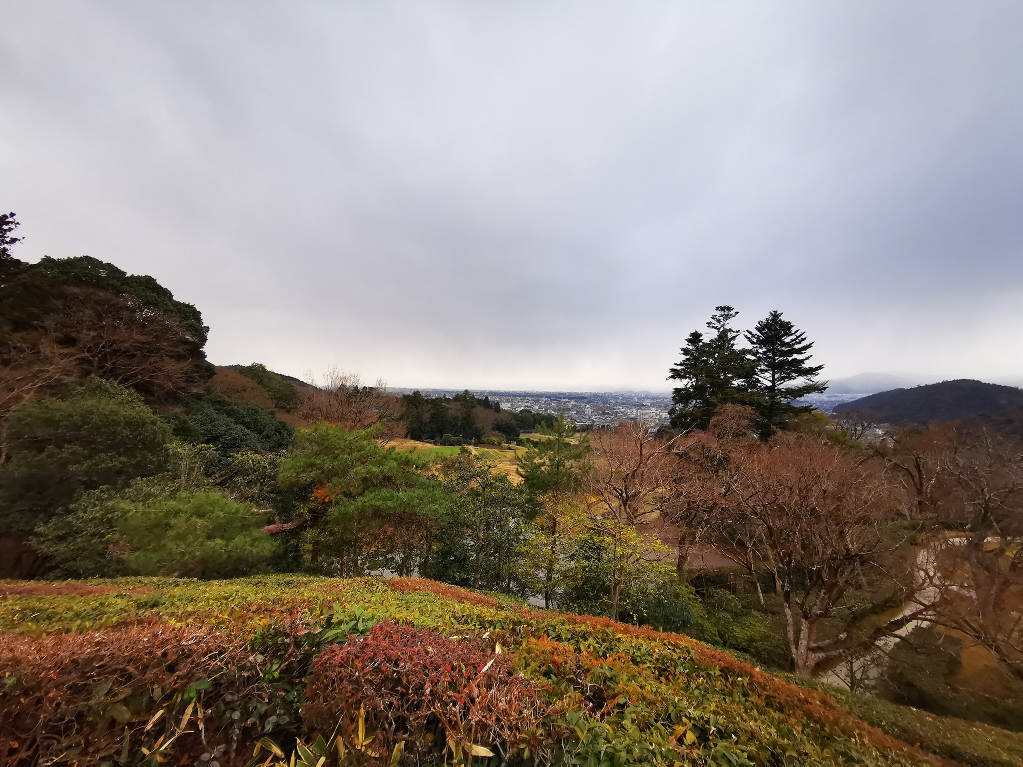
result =
M797 673L859 653L917 620L923 607L858 630L917 588L911 557L896 555L908 534L894 525L896 494L879 466L792 434L742 445L729 463L732 484L710 535L737 561L770 575Z

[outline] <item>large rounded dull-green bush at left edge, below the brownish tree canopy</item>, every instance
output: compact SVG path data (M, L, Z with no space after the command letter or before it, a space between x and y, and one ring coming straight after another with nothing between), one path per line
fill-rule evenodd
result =
M76 493L166 471L171 440L138 394L102 378L21 405L7 422L0 527L29 531Z

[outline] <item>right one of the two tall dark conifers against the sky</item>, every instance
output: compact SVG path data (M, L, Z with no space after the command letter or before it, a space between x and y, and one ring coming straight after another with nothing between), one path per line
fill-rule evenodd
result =
M767 439L794 416L813 410L812 405L793 405L808 394L824 392L828 387L815 380L824 365L809 365L813 347L806 341L806 333L797 330L773 311L760 320L752 331L746 332L756 360L756 388L760 394L754 407L757 410L756 430L761 439Z

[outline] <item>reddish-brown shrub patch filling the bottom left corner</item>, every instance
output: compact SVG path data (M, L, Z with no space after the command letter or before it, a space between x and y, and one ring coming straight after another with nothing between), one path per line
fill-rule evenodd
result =
M164 757L210 753L221 764L241 763L237 746L259 728L247 702L269 698L251 661L241 639L157 621L87 634L2 634L0 764L134 762L158 740Z

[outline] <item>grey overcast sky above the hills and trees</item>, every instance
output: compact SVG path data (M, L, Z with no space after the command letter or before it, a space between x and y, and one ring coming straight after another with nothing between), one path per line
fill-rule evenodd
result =
M1023 3L0 0L0 209L219 364L665 390L731 304L1023 378Z

